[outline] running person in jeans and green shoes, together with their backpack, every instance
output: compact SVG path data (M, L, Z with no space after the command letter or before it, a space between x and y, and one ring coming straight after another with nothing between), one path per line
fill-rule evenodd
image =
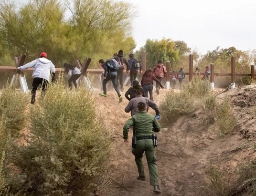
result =
M123 99L117 87L117 70L119 69L117 57L116 59L115 58L108 59L106 62L104 62L103 59L100 59L99 65L104 69L104 80L102 81L103 93L100 93L100 95L104 97L107 96L107 82L111 80L111 82L113 83L114 89L117 92L117 95L119 97L119 103L122 102Z

